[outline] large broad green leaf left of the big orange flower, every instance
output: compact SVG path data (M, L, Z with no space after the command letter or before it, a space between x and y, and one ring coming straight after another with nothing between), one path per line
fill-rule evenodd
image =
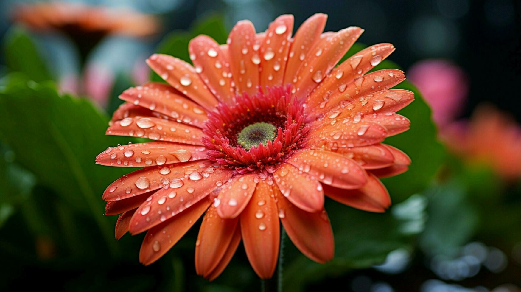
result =
M105 136L108 117L82 99L60 96L47 84L22 81L0 89L0 139L16 153L38 183L54 190L68 206L90 214L113 251L113 218L105 217L103 190L131 169L94 164L108 146L128 138Z

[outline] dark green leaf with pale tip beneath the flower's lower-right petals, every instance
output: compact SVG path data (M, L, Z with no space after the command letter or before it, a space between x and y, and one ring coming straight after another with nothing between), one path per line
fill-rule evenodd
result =
M380 264L396 249L412 250L412 236L423 231L427 220L426 206L425 197L415 195L394 205L390 212L377 214L328 200L326 210L333 227L334 258L318 264L286 242L283 291L301 291L307 283Z

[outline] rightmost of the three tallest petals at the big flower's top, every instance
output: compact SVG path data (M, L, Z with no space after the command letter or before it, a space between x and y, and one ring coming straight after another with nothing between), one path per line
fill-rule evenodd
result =
M324 31L326 21L326 14L317 13L306 19L296 31L290 47L288 64L284 74L284 84L291 82L293 77L296 76L296 72L304 62L307 53L320 40L320 34Z

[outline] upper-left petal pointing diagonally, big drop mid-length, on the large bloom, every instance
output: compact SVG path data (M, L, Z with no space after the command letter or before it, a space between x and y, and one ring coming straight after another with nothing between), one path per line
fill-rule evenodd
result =
M154 54L146 60L146 64L171 86L204 108L212 110L217 104L215 96L187 62L169 55Z

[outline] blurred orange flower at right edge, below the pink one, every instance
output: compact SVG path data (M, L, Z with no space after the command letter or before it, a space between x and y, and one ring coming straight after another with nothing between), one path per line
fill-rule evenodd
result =
M505 179L521 177L521 127L508 114L480 106L468 122L449 125L442 137L470 163L485 163Z

